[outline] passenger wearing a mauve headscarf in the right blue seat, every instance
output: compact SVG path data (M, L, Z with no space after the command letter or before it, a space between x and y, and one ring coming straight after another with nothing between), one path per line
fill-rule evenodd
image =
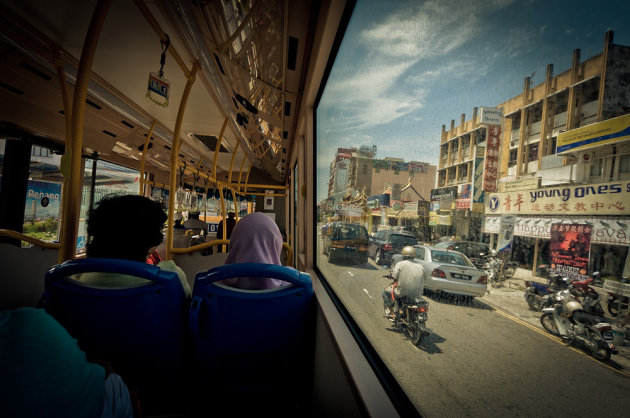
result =
M234 227L230 238L230 251L225 264L280 263L282 234L275 221L261 212L244 216ZM231 287L249 290L275 289L285 286L282 280L267 277L234 277L219 282Z

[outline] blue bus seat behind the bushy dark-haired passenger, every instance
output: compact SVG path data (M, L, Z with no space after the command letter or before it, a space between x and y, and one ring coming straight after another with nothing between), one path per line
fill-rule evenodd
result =
M150 282L130 287L93 286L75 274L126 274ZM185 357L188 301L176 272L146 263L85 258L51 267L42 306L98 359L111 361L128 382L179 375Z

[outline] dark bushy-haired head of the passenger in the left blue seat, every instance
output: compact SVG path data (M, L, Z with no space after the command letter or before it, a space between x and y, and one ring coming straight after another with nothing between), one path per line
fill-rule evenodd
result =
M105 196L88 213L88 257L145 261L162 242L166 213L160 203L138 195Z

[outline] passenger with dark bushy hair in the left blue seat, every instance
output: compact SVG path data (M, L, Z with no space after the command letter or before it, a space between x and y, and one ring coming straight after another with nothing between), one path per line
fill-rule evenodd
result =
M144 263L162 243L162 225L166 218L162 206L146 197L106 196L88 213L86 255ZM173 260L160 261L157 266L163 270L177 272L186 297L191 296L186 274ZM75 279L109 287L149 282L139 277L102 272L83 273Z

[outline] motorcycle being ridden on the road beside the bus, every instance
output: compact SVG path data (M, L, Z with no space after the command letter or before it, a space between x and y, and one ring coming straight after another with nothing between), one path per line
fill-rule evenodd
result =
M395 280L391 275L387 275L386 277ZM395 285L396 282L394 281L394 286ZM429 302L420 295L403 296L402 298L396 298L394 305L394 312L396 312L396 314L390 321L394 322L396 327L401 327L411 343L417 346L420 344L422 337L431 334L431 331L426 326L428 311ZM385 308L385 316L387 316L388 313L388 309Z

